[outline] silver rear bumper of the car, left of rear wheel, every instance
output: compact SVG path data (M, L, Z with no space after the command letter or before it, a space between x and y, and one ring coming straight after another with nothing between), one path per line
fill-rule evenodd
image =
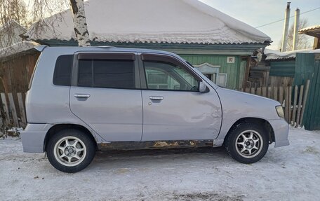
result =
M25 130L21 132L22 147L24 152L44 152L44 139L51 124L28 123Z

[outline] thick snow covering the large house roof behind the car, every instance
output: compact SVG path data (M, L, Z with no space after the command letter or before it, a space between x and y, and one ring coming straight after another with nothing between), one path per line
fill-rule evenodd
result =
M126 43L265 43L269 36L198 0L85 1L91 40ZM58 19L62 20L58 20ZM27 32L34 40L75 39L71 11L44 20ZM268 43L268 42L267 42Z

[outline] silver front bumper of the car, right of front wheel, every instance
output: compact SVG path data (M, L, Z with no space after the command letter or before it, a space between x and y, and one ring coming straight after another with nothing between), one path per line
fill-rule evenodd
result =
M286 120L284 120L283 118L279 120L269 120L269 123L274 130L274 147L289 145L289 125L288 123L286 123Z

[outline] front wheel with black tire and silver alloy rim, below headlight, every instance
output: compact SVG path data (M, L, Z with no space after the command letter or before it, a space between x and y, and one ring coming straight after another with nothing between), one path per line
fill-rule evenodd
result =
M254 163L263 158L265 153L267 153L269 134L265 127L258 123L241 123L229 132L225 141L225 147L227 153L234 160L246 164Z

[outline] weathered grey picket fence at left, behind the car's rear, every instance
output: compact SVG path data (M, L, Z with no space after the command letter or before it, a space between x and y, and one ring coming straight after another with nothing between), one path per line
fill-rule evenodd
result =
M25 127L27 125L25 93L0 93L0 97L0 127Z

